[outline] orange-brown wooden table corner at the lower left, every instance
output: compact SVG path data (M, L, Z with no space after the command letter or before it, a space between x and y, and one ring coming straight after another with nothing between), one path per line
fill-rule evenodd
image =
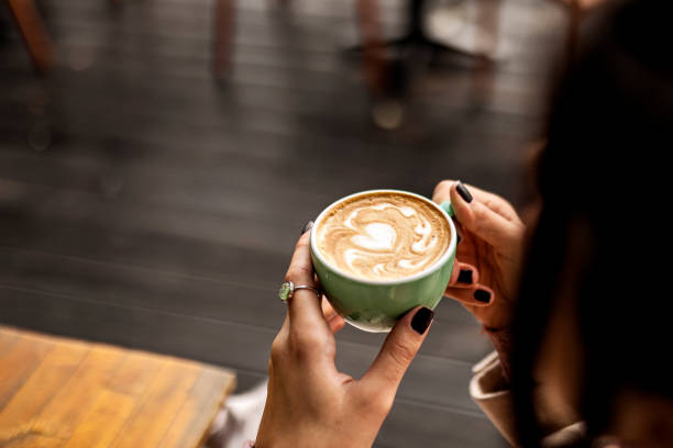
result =
M198 447L228 370L0 326L0 447Z

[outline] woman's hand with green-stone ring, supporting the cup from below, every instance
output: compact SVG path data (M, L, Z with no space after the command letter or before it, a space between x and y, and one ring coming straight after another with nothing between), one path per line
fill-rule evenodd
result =
M309 234L299 238L286 280L315 285ZM393 406L397 387L432 321L411 310L393 328L360 380L336 370L333 333L343 318L310 290L288 300L272 345L268 396L256 448L369 447Z

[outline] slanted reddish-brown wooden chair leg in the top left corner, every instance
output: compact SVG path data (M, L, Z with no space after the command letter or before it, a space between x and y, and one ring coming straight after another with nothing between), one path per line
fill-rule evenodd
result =
M47 72L56 61L54 46L35 9L33 0L8 0L29 54L41 72Z

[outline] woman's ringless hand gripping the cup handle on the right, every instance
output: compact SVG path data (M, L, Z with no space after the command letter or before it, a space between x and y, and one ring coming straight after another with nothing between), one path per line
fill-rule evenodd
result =
M521 268L523 223L503 198L461 182L441 181L432 200L451 200L462 238L445 295L461 302L486 328L508 327ZM472 282L454 281L470 270Z

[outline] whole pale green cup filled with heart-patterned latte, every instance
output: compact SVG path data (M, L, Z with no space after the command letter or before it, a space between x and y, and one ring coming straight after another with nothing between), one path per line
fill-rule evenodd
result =
M407 200L408 202L405 202ZM390 204L391 202L397 205ZM365 205L358 205L363 203ZM372 205L368 205L369 203ZM366 224L357 222L366 222L363 216L374 216L375 210L388 209L390 210L387 213L393 216L393 221L382 219L380 223L376 223L373 222L376 221L374 219ZM419 214L417 221L412 220L416 219L413 213ZM400 221L405 216L411 221ZM320 287L334 310L349 324L375 333L389 332L395 323L415 306L422 305L433 310L442 299L455 260L457 233L451 216L453 210L449 202L438 205L419 194L400 190L363 191L342 198L324 209L311 228L310 250ZM333 224L333 221L336 224ZM396 225L400 227L396 223L405 224L410 229L396 228ZM408 246L411 242L410 238L405 239L405 235L396 234L402 231L418 231L420 236L412 235L417 245L413 246L415 249L431 247L427 253L432 251L433 258L428 256L428 259L411 261L400 258L380 264L376 262L379 258L362 259L368 257L367 251L379 257L384 246L390 246L388 251L391 254L404 255L409 251L408 247L399 246ZM361 246L341 250L346 256L340 256L341 253L330 246L329 232L334 235L344 235L343 232L347 232L346 235L350 236L346 244L351 245L354 240ZM396 242L398 247L393 247L390 242ZM333 253L328 253L329 250ZM405 272L406 268L408 272Z

